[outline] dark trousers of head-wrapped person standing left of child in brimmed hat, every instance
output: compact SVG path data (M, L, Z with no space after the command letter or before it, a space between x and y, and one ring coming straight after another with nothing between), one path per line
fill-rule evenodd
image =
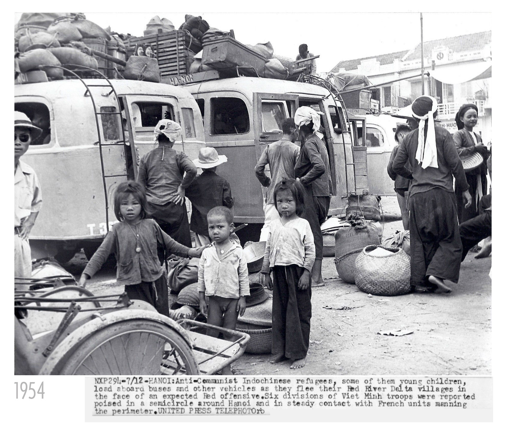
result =
M174 202L167 202L164 205L149 203L148 210L161 230L179 244L191 248L190 224L184 203L183 205L176 205Z

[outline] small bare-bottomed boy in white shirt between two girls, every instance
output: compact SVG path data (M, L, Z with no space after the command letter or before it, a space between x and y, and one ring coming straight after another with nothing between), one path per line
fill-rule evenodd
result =
M246 310L245 296L249 295L246 258L242 247L230 241L233 221L229 208L209 210L207 225L213 243L203 250L198 266L200 312L207 315L208 324L227 329L235 329L238 316ZM219 331L208 329L207 335L218 337ZM222 374L232 374L230 366L223 368Z

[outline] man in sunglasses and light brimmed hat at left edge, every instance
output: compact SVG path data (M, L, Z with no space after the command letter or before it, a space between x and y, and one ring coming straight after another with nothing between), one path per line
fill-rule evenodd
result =
M28 235L42 206L35 171L19 159L41 133L25 113L14 111L14 277L31 277Z

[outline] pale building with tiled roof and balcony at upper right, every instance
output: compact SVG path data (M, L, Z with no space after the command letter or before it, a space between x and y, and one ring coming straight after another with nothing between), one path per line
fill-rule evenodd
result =
M483 141L492 140L490 97L492 32L466 34L424 42L424 66L430 76L421 80L421 47L353 60L340 61L331 70L367 75L378 85L371 97L382 111L395 113L422 94L434 96L439 119L450 132L456 131L455 114L463 103L478 106L478 125ZM389 81L401 80L392 84Z

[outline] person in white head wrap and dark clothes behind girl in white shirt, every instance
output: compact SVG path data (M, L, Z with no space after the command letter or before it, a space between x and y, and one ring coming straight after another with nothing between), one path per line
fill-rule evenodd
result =
M311 271L312 286L323 286L321 262L323 260L323 236L320 225L325 221L330 207L332 182L325 144L321 140L320 114L309 106L301 106L293 117L301 150L294 166L294 174L304 186L305 209L302 215L311 226L316 248L316 260Z

